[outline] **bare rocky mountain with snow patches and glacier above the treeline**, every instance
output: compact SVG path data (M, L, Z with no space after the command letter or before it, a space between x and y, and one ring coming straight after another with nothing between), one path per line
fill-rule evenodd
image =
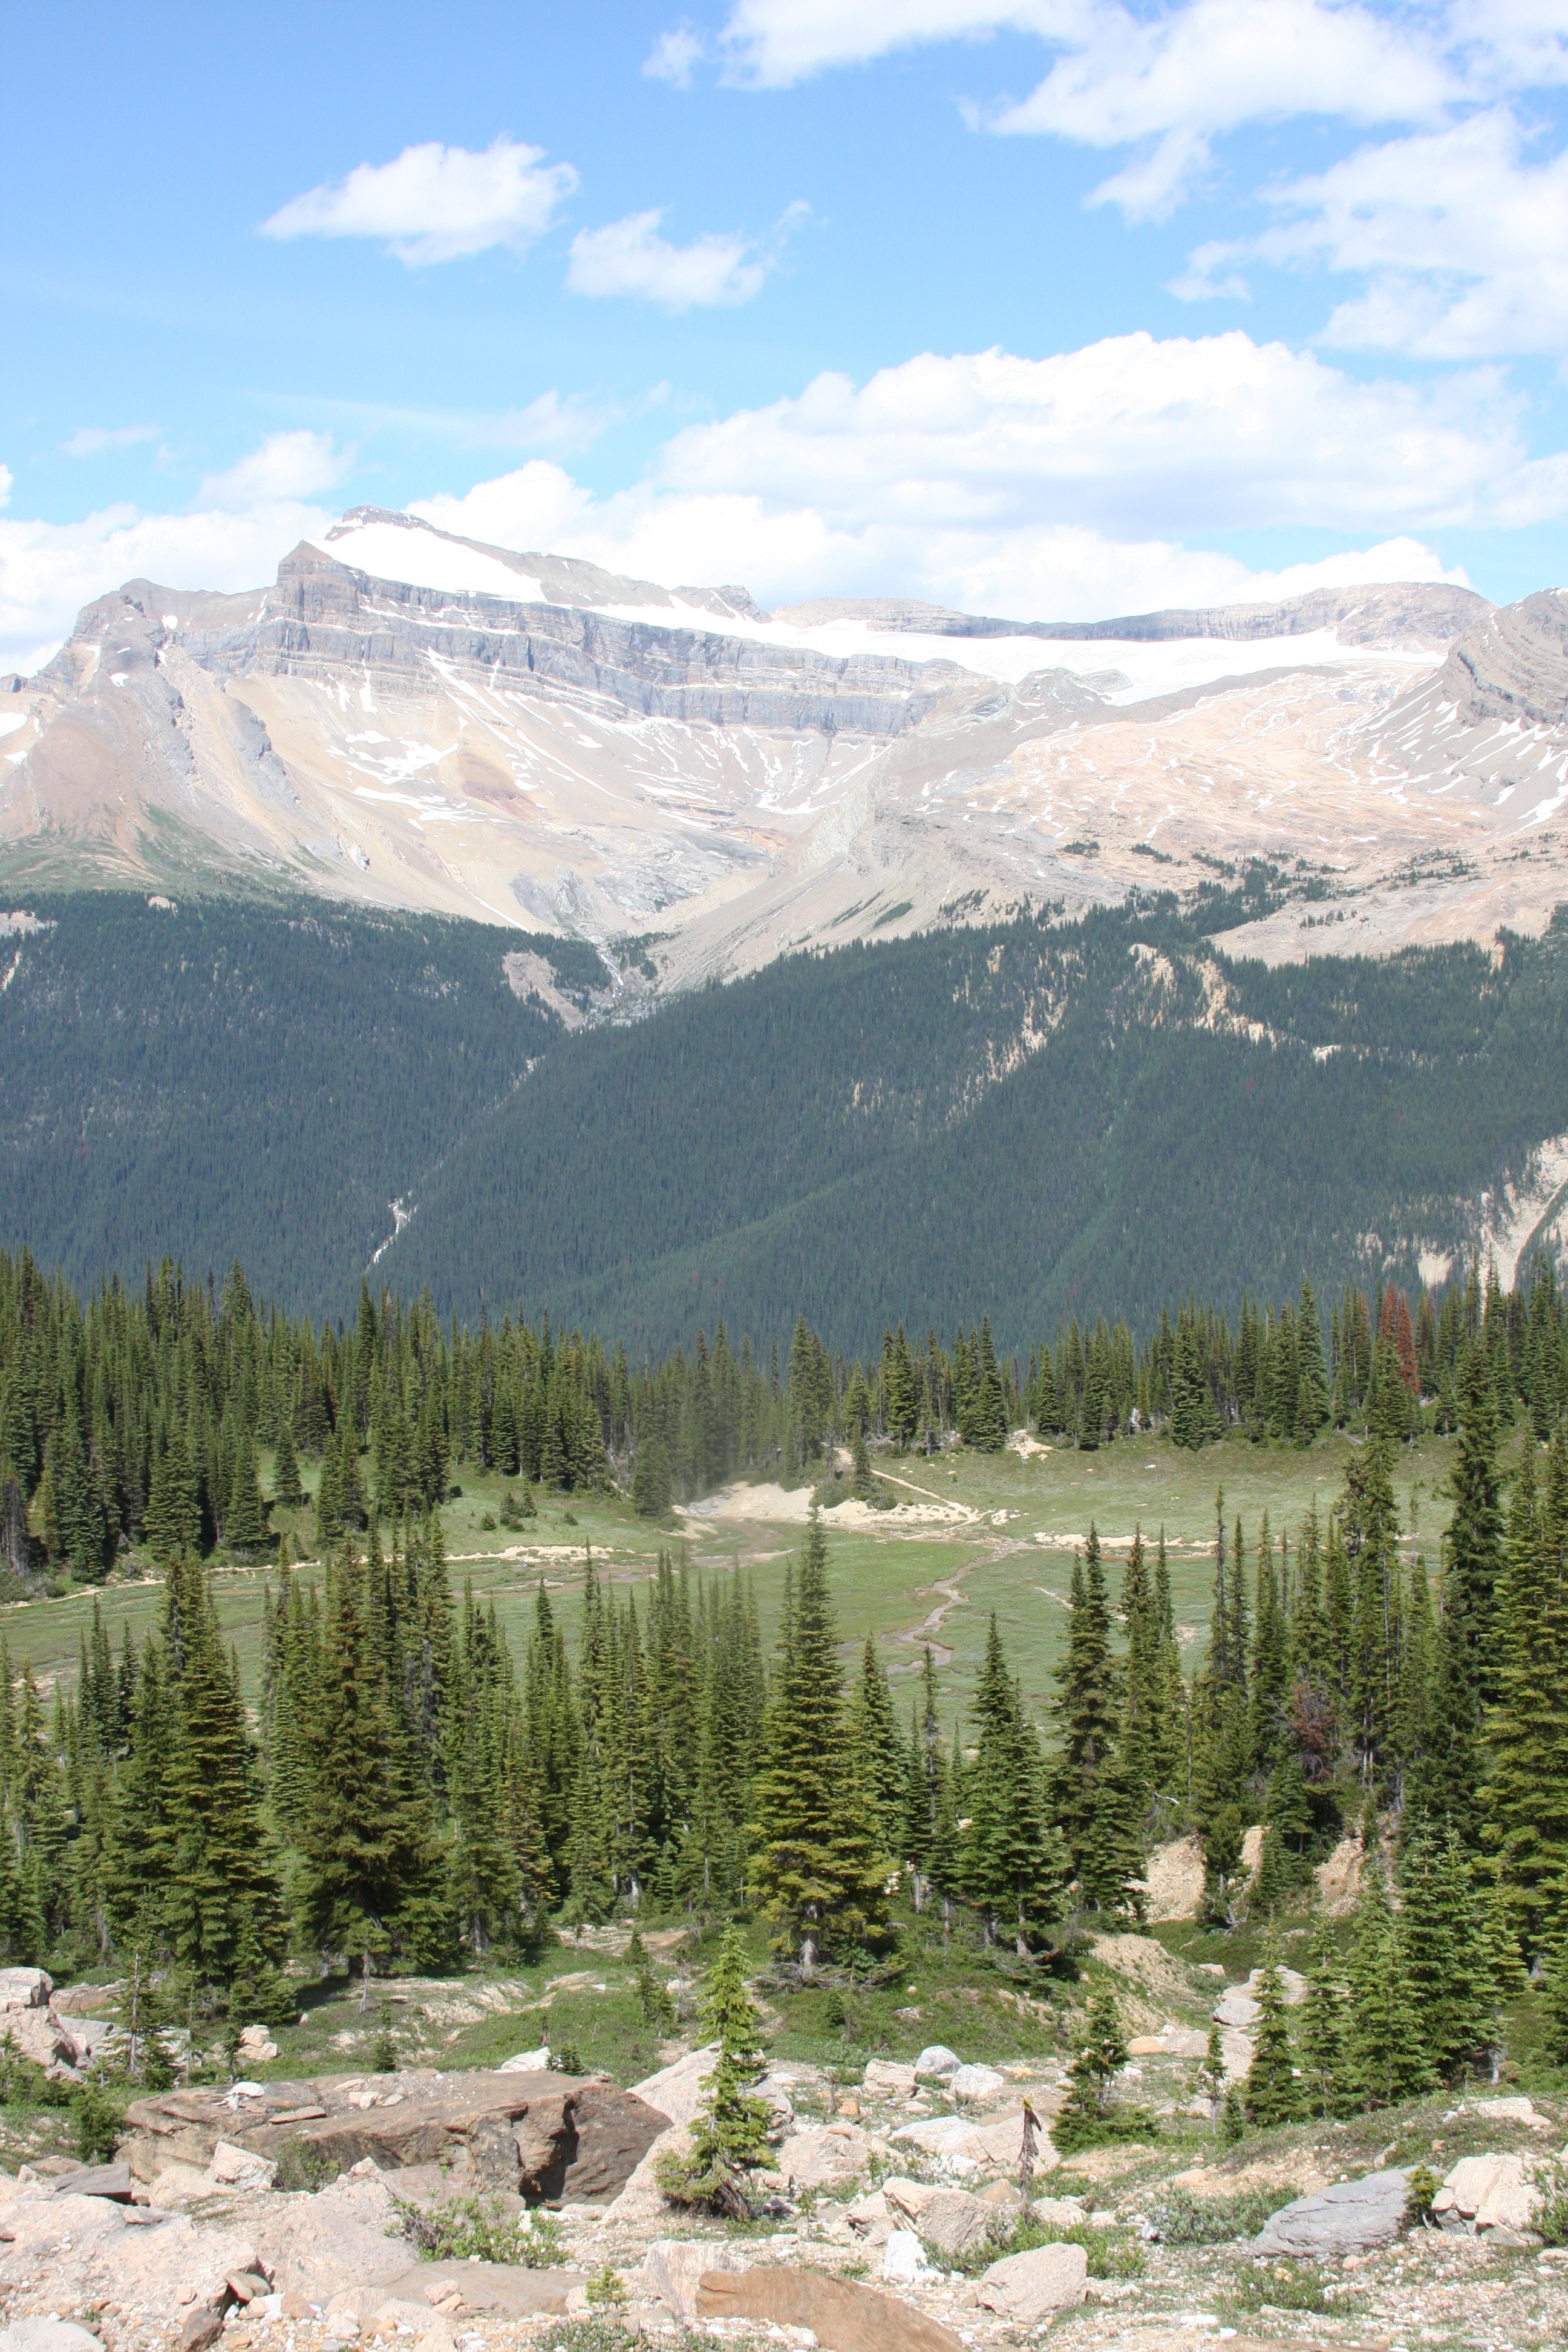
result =
M1566 614L1408 586L1105 623L766 614L357 510L263 590L132 581L82 612L0 699L0 875L658 929L677 981L1258 858L1356 924L1274 920L1262 953L1490 936L1568 894Z

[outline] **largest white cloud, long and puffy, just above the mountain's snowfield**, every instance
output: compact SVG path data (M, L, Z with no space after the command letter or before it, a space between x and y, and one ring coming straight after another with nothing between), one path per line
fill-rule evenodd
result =
M1133 334L818 376L677 433L635 489L595 499L534 461L414 513L764 602L903 593L1041 619L1293 593L1192 534L1328 524L1349 550L1288 579L1436 579L1415 534L1563 508L1568 459L1530 461L1490 374L1368 386L1244 334Z

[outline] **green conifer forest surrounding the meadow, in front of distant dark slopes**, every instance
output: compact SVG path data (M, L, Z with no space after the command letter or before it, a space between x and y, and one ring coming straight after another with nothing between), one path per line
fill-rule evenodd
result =
M1027 1355L980 1322L846 1359L797 1319L783 1348L719 1324L632 1362L369 1282L315 1327L237 1263L78 1296L0 1256L0 1933L219 2020L287 2018L301 1964L369 1990L614 1919L750 1922L849 1983L938 1936L1048 1987L1192 1839L1208 1933L1312 1929L1288 2020L1265 1969L1237 2129L1486 2070L1526 1994L1568 2060L1566 1406L1544 1261L1507 1291L1474 1261L1415 1305L1305 1284L1143 1334L1067 1322ZM1446 1463L1425 1524L1415 1444ZM997 1616L957 1703L938 1642L846 1653L835 1515L1009 1446L1213 1461L1206 1623L1178 1628L1159 1524L1112 1557L1091 1519L1044 1705ZM1333 1484L1295 1517L1227 1508L1227 1463L1267 1494L1319 1456ZM475 1479L522 1538L510 1632L449 1559ZM691 1505L729 1489L802 1505L766 1606L738 1557L686 1557ZM583 1543L552 1595L529 1524L590 1498L656 1564L607 1573ZM148 1576L155 1613L113 1639ZM263 1590L249 1677L235 1578ZM31 1611L73 1592L92 1613L45 1689ZM1359 1898L1331 1924L1314 1870L1347 1844Z

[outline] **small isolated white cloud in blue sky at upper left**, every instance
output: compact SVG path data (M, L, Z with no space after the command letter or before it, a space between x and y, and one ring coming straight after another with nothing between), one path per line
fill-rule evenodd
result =
M383 238L409 268L491 245L522 254L578 183L569 162L545 165L543 153L512 139L484 153L430 139L393 162L355 165L336 186L308 188L263 221L261 235Z

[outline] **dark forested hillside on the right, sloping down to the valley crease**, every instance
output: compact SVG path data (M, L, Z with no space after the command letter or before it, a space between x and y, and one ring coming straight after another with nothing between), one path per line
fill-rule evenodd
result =
M945 931L567 1040L425 1188L397 1282L661 1348L797 1308L842 1348L912 1310L1027 1345L1368 1279L1363 1235L1462 1237L1455 1202L1568 1127L1568 931L1500 967L1211 957L1171 915Z

